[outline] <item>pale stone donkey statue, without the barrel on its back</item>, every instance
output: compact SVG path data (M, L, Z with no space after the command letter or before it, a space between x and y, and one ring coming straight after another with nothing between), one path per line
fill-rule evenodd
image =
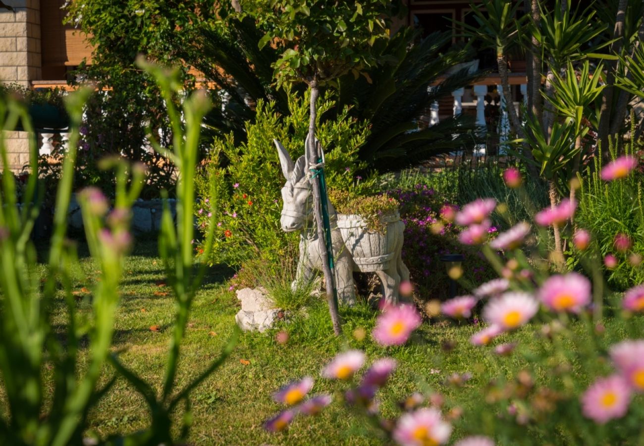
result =
M292 285L295 287L298 284L312 280L314 271L322 270L320 244L313 218L313 194L310 179L307 175L306 157L301 156L296 162L293 162L289 153L279 141L274 140L274 143L278 149L279 162L286 179L286 183L281 189L281 196L284 202L280 218L281 228L285 232L300 231L299 262L296 280ZM353 272L361 271L361 268L355 264L350 250L345 246L345 240L343 240L340 230L337 228L336 209L331 202L328 202L328 211L336 265L335 279L338 299L343 304L353 305L355 303ZM374 271L383 283L384 299L388 304L398 302L401 280L409 280L409 270L401 258L403 230L404 224L401 221L395 225L390 225L388 237L395 240L393 260L388 262L389 266L386 269ZM373 269L370 269L370 271L373 271Z

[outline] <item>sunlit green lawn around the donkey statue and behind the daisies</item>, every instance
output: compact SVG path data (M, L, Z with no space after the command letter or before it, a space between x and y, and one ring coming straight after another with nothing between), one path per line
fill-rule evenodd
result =
M81 264L87 280L77 284L79 298L84 296L79 305L87 310L90 296L84 291L91 289L98 272L87 258ZM164 273L155 243L137 242L125 271L113 348L120 352L124 364L159 389L174 302L171 291L160 285ZM228 291L224 283L231 273L223 267L212 269L196 295L182 346L180 384L200 373L218 355L232 333L234 315L239 308L234 292ZM243 334L223 367L194 391L194 422L189 441L238 445L379 443L377 433L368 429L368 423L337 401L318 418L296 419L285 434L269 434L262 427L263 421L279 410L278 404L272 402L271 394L290 380L310 374L316 378L314 393L336 391L339 395L342 386L323 380L319 371L334 354L348 347L365 350L370 359L390 355L399 361L392 382L379 395L381 411L386 416L397 413L396 403L413 391L435 389L451 395L453 388L444 383L448 374L472 373L468 387L474 389L482 385L482 373L497 367L483 349L469 344L468 338L476 327L423 324L407 345L383 349L372 342L369 334L361 341L353 336L359 327L364 327L367 333L372 329L375 321L372 309L358 305L342 309L341 313L345 325L344 334L339 338L332 335L327 309L321 303L309 308L307 315L296 315L290 324L284 325L290 334L287 344L276 342L276 331ZM59 326L64 324L62 305L54 322ZM153 325L158 331L151 330ZM610 331L609 325L607 333ZM527 330L512 336L526 340L526 345L538 342ZM456 343L447 355L441 354L445 342ZM518 359L513 358L508 363L512 369L522 367ZM104 379L111 373L106 369ZM464 401L467 404L467 400ZM120 380L91 413L90 427L104 437L116 432L137 431L146 427L148 420L142 398L128 383ZM459 426L456 428L458 436Z

